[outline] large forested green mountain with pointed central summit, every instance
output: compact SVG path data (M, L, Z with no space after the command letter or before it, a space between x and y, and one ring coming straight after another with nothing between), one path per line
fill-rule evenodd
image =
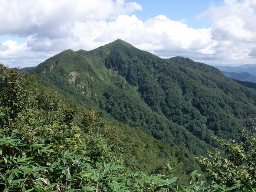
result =
M95 50L57 54L30 73L76 103L110 120L138 127L194 154L219 147L212 136L243 139L256 92L220 70L184 57L161 59L120 39Z

